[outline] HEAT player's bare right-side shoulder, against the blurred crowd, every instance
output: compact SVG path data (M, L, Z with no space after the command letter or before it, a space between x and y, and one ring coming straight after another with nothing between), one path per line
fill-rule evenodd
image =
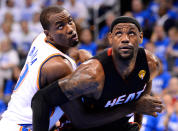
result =
M150 80L156 77L160 71L160 63L158 58L148 50L145 50L148 67L150 70Z

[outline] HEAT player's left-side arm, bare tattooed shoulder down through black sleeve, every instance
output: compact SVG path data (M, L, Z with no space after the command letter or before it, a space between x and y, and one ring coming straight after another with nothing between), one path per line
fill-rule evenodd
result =
M99 92L100 87L102 87L102 82L100 82L102 77L98 74L101 74L102 71L98 68L95 61L90 60L90 62L81 64L73 74L53 82L35 94L32 99L34 131L48 130L49 108L62 105L84 94L93 95L94 97L100 95L97 92ZM89 68L91 65L93 65L93 68ZM59 70L60 69L65 71L65 67L61 67ZM54 75L56 74L54 73ZM44 80L46 80L46 78L44 78ZM93 94L93 92L96 93Z

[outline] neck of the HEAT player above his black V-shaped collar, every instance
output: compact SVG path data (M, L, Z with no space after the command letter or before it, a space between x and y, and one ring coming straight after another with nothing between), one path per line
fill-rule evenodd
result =
M118 73L125 79L135 67L136 55L132 59L123 60L113 54L113 62Z

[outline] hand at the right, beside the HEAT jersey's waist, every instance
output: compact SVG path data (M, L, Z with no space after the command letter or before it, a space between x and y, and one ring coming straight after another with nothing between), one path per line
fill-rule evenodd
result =
M141 113L145 115L151 115L156 117L157 112L161 113L164 109L164 106L158 97L145 95L142 96L135 105L136 113Z

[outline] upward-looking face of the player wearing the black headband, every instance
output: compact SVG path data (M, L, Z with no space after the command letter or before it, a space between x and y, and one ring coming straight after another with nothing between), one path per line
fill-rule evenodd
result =
M109 34L109 41L118 58L132 59L134 55L137 55L138 44L142 41L142 33L139 32L135 24L119 23Z

